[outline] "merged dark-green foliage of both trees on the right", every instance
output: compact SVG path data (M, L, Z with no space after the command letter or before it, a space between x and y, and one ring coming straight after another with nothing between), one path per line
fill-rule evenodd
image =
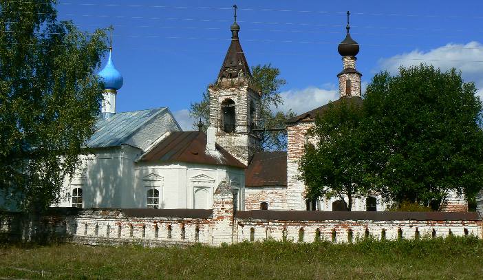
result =
M332 105L301 159L308 197L376 192L387 202L440 208L450 192L482 189L482 103L455 69L376 74L363 106Z

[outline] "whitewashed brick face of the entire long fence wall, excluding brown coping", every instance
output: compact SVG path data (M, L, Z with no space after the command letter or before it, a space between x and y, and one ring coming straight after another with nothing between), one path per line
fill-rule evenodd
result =
M367 236L376 239L414 239L418 236L447 237L449 235L482 237L482 222L477 219L313 221L234 218L233 200L230 198L229 189L218 192L217 198L219 200L213 208L213 217L208 218L125 217L122 211L88 209L78 215L43 217L41 224L34 226L31 231L41 231L50 239L68 243L140 244L142 246L188 246L195 243L219 246L223 243L233 244L265 239L303 242L320 239L343 243ZM27 238L29 229L26 226L32 226L31 223L25 220L19 222L18 217L6 215L6 213L2 213L0 217L0 237L17 235Z

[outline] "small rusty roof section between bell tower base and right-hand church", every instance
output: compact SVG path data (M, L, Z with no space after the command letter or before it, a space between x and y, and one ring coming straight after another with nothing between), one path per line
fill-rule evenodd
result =
M287 152L255 153L245 171L245 186L287 186Z

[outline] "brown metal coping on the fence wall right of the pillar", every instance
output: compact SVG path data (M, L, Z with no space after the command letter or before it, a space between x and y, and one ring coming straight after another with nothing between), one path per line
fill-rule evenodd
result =
M237 219L271 221L477 221L475 212L237 211Z

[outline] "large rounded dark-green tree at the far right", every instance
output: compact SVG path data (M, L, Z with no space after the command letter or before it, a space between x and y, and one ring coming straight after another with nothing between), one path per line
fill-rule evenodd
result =
M364 100L365 142L372 182L387 200L437 208L449 191L471 198L482 189L482 103L475 92L455 69L420 65L374 76Z

